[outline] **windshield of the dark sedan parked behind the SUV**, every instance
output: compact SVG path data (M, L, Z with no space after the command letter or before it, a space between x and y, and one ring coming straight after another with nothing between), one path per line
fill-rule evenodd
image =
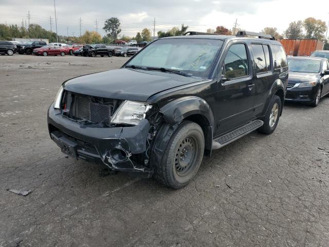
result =
M319 73L321 60L316 59L288 59L288 67L291 72Z

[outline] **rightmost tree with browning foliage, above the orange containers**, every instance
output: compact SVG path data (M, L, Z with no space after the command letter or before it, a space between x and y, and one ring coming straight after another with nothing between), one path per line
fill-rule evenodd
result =
M326 30L325 22L321 20L316 20L313 17L308 17L303 22L305 28L305 38L306 39L316 39L321 40L323 39L323 33Z

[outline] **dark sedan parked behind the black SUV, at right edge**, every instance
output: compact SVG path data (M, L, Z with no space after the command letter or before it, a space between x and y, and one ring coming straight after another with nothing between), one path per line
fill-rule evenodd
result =
M285 100L313 107L329 93L329 63L325 58L288 57L289 82Z

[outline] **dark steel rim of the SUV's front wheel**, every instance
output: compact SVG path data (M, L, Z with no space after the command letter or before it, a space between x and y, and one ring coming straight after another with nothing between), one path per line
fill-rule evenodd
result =
M185 177L193 170L197 154L197 143L194 137L185 137L178 146L175 155L175 171L179 177Z

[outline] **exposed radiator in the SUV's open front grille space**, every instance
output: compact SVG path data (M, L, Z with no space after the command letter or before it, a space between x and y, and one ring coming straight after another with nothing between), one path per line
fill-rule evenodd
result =
M102 122L109 124L113 115L114 105L114 100L108 102L95 97L76 96L75 117L94 123Z

